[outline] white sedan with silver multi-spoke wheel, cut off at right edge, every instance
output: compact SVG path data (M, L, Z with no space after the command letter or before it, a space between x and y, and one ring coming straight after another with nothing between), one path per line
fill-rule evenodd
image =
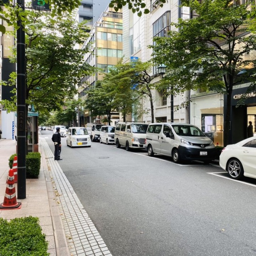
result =
M243 176L256 179L255 158L256 137L251 137L226 146L220 154L220 167L235 180Z

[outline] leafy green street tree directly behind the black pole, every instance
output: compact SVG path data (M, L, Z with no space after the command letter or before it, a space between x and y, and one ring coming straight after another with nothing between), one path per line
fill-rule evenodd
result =
M88 33L84 24L69 14L52 24L47 20L49 14L26 12L26 105L33 104L38 111L58 110L64 100L74 98L81 78L93 72L83 58L90 46L77 47L88 38ZM15 85L16 74L11 74L5 84ZM13 102L15 108L16 94ZM11 102L2 103L11 109Z

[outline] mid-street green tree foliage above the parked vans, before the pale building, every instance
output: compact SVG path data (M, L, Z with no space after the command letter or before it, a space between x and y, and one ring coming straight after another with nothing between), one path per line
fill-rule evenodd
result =
M125 64L120 61L109 69L101 81L98 81L96 88L88 91L86 108L92 111L93 116L107 115L109 122L113 110L122 112L124 119L130 113L140 118L146 112L141 107L143 98L148 96L150 102L153 102L151 67L150 62L140 60ZM153 110L153 103L151 106Z

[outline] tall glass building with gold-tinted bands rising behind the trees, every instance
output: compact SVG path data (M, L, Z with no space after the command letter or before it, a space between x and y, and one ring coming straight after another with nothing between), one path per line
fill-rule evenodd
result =
M94 88L97 80L101 80L104 72L117 64L122 58L122 10L116 12L114 8L106 8L102 16L94 24L90 31L90 37L84 46L92 43L93 51L85 55L85 60L88 64L102 69L102 72L96 73L94 76L85 76L81 80L78 88L78 98L86 98L88 90ZM112 119L119 118L119 114L112 115ZM95 119L96 120L95 120ZM102 119L102 117L90 117L90 110L84 110L84 123L95 122ZM113 122L114 124L114 122Z

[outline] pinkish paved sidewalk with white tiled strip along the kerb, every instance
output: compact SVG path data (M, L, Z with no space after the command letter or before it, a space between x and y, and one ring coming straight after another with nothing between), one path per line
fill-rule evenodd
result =
M26 198L17 199L21 208L0 210L0 217L38 217L51 256L112 256L40 135L39 152L40 174L38 179L26 179ZM8 159L15 153L15 140L0 139L0 203L6 190Z

